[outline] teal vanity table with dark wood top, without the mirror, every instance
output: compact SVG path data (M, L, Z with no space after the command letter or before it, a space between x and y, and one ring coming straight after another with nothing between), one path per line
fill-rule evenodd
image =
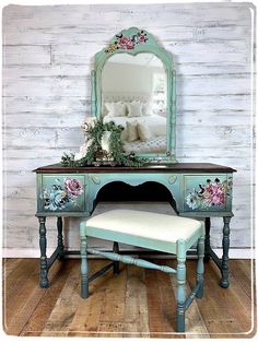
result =
M220 285L228 286L230 221L234 169L214 164L176 163L144 167L80 167L49 165L37 173L37 217L39 221L40 286L48 286L47 273L58 257L68 255L62 238L62 217L87 217L94 210L99 190L121 181L131 186L154 181L163 185L175 201L178 215L206 221L206 260L211 257L221 270ZM58 245L46 257L46 217L57 217ZM210 218L223 218L223 257L219 259L210 247Z

